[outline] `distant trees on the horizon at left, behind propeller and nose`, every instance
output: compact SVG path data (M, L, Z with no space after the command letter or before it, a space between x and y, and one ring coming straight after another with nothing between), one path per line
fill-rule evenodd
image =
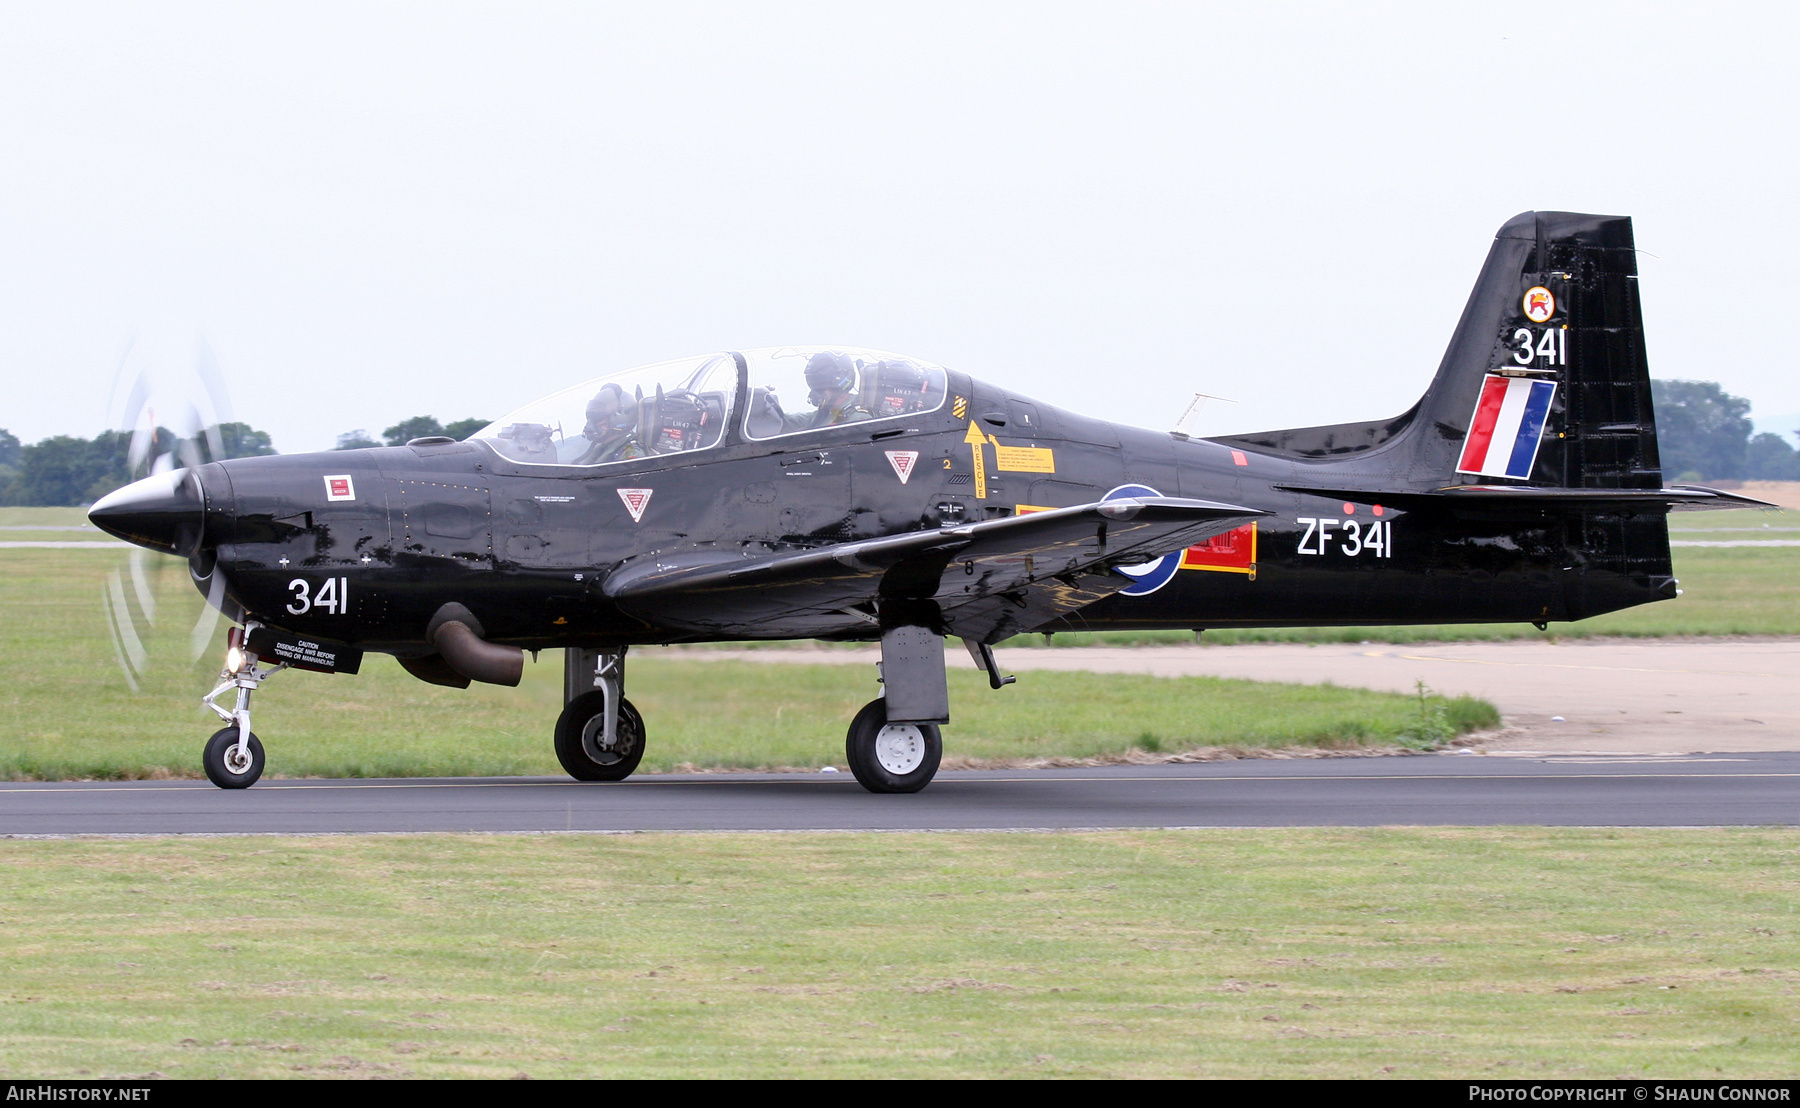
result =
M427 435L466 439L484 426L486 419L457 419L443 424L432 416L414 416L383 430L382 439L387 446L403 446L409 439ZM218 459L207 444L209 435L202 435L198 442L202 462L275 453L268 432L259 432L248 423L221 423L216 432ZM158 426L149 453L167 453L175 442L175 432ZM362 430L338 435L338 450L360 446L383 446L383 442L376 442ZM92 439L52 435L23 444L18 435L0 428L0 504L38 507L94 504L131 482L130 455L131 432L101 432Z

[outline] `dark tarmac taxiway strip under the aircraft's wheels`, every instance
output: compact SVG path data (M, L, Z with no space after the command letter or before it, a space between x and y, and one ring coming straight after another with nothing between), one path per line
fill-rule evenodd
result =
M1498 824L1796 826L1800 752L958 770L913 795L866 793L848 773L0 784L4 836Z

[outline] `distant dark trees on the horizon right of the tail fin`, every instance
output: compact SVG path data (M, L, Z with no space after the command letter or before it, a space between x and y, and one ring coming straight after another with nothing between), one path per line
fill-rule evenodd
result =
M1800 480L1800 451L1777 433L1753 435L1750 401L1717 381L1651 381L1651 396L1665 480Z

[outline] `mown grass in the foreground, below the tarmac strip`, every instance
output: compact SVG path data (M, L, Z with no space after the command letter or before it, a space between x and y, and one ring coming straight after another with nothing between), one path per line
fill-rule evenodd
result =
M4 842L0 1070L1791 1077L1795 831Z

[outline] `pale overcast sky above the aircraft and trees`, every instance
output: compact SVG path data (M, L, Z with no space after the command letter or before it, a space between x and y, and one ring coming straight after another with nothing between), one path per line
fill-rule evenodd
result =
M205 335L283 451L790 342L1157 428L1381 417L1526 209L1634 216L1652 374L1800 414L1796 22L7 2L0 426L103 430L133 335L171 380Z

